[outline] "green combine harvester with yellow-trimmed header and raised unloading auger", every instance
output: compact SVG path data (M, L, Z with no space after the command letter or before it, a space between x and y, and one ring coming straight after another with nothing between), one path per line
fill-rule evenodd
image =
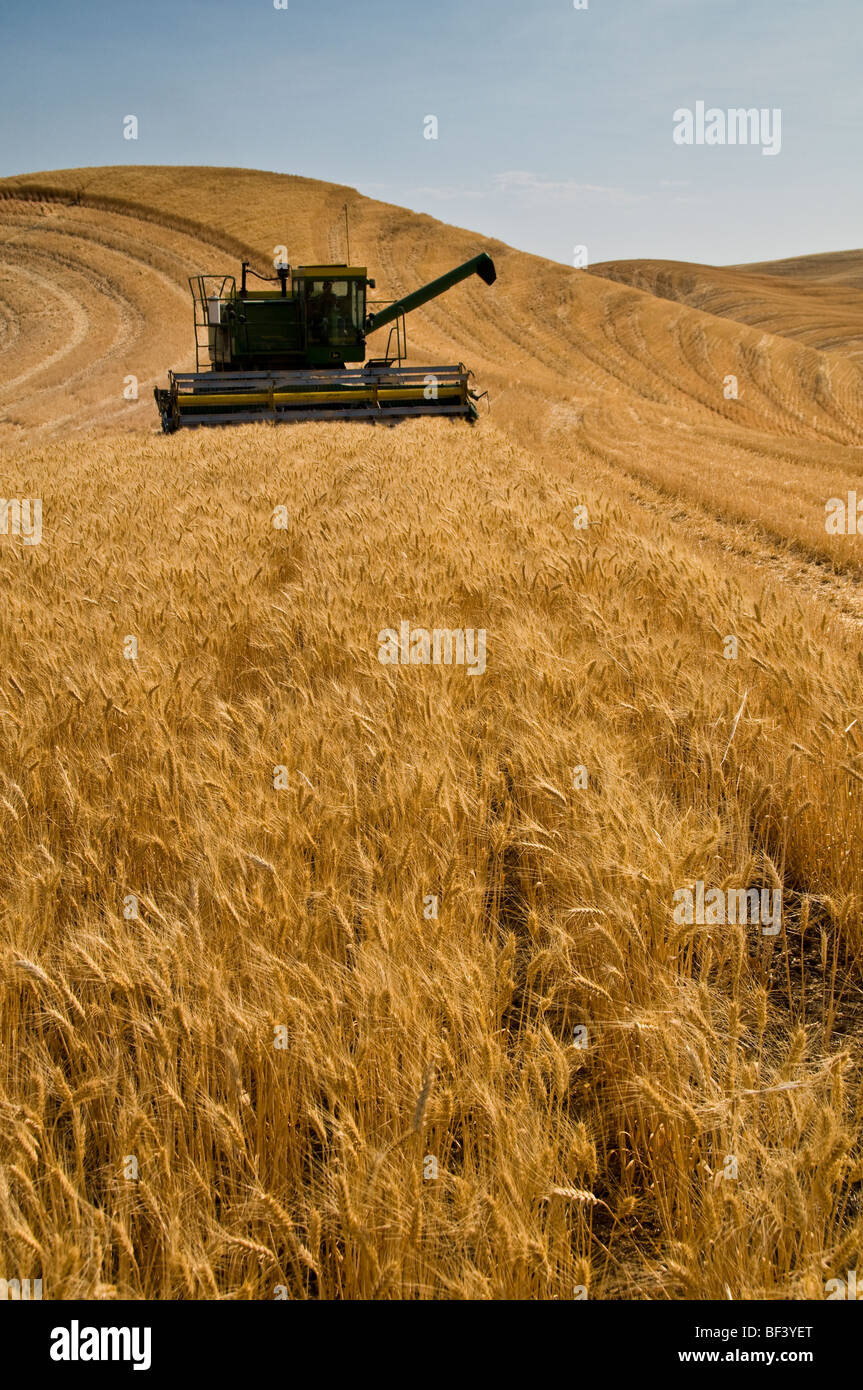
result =
M239 291L233 275L195 275L197 370L171 371L168 388L156 388L163 430L247 420L472 421L481 396L468 386L472 373L464 363L404 366L404 316L474 274L495 282L491 256L474 256L385 307L370 303L370 311L365 289L375 282L364 265L277 265L267 277L243 261ZM279 288L247 289L249 275ZM384 357L365 363L367 334L388 325Z

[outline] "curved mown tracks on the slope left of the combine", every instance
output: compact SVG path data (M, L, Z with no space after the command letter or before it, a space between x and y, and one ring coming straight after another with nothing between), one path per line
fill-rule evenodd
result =
M0 385L4 423L42 435L138 414L122 398L124 378L132 373L146 392L172 364L174 306L186 300L183 278L199 257L190 231L143 227L131 210L0 199L0 265L14 286L0 356L7 370L18 367ZM47 307L33 318L35 293Z

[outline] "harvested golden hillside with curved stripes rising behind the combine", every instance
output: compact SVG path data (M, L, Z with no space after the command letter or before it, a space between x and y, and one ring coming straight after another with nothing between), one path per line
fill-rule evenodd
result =
M79 203L25 202L28 188L31 197L68 188ZM264 267L279 243L295 259L338 257L345 202L352 254L368 264L382 299L486 245L350 189L254 171L65 171L0 181L0 195L7 442L57 428L150 430L153 385L168 367L193 364L186 275L233 268L243 245ZM139 211L129 215L128 204ZM206 239L190 234L189 220ZM849 352L817 350L807 332L827 341L837 328L810 322L792 339L781 310L766 332L488 246L498 284L463 285L414 313L416 360L468 360L489 388L495 421L524 443L554 453L563 432L567 448L578 441L614 468L625 459L641 482L859 569L857 538L824 532L827 496L845 495L859 477L859 453L846 446L863 439L857 328L848 310L838 324ZM755 317L762 313L756 296ZM138 378L136 403L122 395L128 375ZM737 399L727 398L730 377ZM785 460L795 474L791 499L775 485Z

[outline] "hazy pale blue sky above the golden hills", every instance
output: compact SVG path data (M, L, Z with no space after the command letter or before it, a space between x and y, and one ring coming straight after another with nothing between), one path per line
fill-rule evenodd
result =
M863 0L0 0L0 177L243 165L567 264L773 260L863 245L862 74ZM699 101L763 143L677 143Z

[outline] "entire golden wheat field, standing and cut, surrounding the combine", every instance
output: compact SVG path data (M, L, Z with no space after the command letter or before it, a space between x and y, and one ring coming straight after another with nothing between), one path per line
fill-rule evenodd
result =
M345 202L379 297L491 250L409 322L491 411L157 432L183 277L340 260ZM575 271L254 171L0 181L4 491L43 499L40 543L0 535L6 1268L153 1300L855 1268L863 549L824 506L863 496L862 267ZM382 664L403 621L482 630L485 670ZM781 931L678 923L699 880L781 891Z

